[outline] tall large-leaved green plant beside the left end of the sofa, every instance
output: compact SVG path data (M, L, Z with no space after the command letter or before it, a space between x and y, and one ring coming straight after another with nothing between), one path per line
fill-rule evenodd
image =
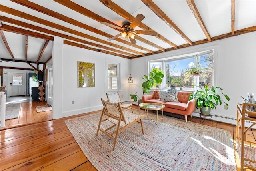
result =
M142 79L145 80L142 83L142 91L143 91L142 96L144 95L144 93L150 93L150 89L152 87L156 87L156 85L161 84L162 78L164 78L163 71L159 70L158 68L153 68L152 71L149 73L149 77L144 75L144 77L142 77ZM130 94L131 99L134 99L134 101L137 101L138 98L140 99L140 97L138 97L136 93Z

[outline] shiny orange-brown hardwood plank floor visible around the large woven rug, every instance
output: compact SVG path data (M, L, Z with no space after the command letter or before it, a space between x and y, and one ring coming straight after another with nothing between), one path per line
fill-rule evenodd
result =
M33 101L22 104L22 117L19 117L16 123L22 123L25 120L28 121L30 120L30 116L33 116L35 121L42 121L46 118L46 116L49 117L49 113L40 113L44 115L42 118L34 116L37 115L34 113L36 112L34 105L38 104L35 104ZM137 106L134 105L134 108L135 107ZM66 119L79 117L86 114L90 113L84 113L62 119L43 121L31 125L26 125L30 123L27 122L24 126L18 125L20 127L1 130L0 170L96 170L90 161L88 161L88 159L84 156L80 147L64 123L64 120ZM171 117L184 120L184 116L181 115L172 114ZM215 121L212 124L212 121L202 119L200 123L200 119L197 117L193 117L192 119L188 117L188 120L203 125L229 130L232 138L236 138L235 125ZM250 141L256 142L255 137L256 130L251 130L248 138ZM237 158L238 157L236 155L236 161L238 162ZM240 170L239 163L238 170Z

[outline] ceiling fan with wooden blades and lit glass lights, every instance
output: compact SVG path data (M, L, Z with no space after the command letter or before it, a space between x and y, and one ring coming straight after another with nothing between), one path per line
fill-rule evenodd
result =
M122 27L115 26L113 24L109 24L107 22L101 22L101 24L105 24L106 26L110 26L112 28L119 29L120 34L117 34L116 36L113 36L112 38L107 39L108 41L113 40L119 36L122 36L123 38L129 38L132 44L136 44L135 40L135 34L146 34L151 36L156 36L157 32L154 31L144 31L144 30L134 30L134 28L145 18L142 14L138 14L134 20L130 23L125 23Z

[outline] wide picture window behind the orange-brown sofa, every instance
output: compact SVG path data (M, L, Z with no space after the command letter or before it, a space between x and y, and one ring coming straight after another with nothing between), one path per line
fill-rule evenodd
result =
M208 87L213 86L213 71L214 71L214 51L210 50L202 53L195 53L189 56L182 56L180 58L164 59L157 61L150 61L150 68L159 68L164 71L164 78L162 85L158 85L161 89L170 88L169 78L172 77L176 88L193 89L204 84ZM163 67L162 67L163 66ZM197 66L204 70L204 73L198 77L186 76L186 70L191 66ZM157 87L157 88L158 88Z

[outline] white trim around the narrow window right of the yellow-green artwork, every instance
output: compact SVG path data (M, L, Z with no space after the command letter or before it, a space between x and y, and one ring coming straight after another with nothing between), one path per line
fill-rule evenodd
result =
M115 64L117 65L117 73L118 73L118 79L117 79L117 89L108 89L108 64ZM120 84L120 62L113 61L113 60L105 60L105 92L113 92L113 91L121 91L121 84Z

